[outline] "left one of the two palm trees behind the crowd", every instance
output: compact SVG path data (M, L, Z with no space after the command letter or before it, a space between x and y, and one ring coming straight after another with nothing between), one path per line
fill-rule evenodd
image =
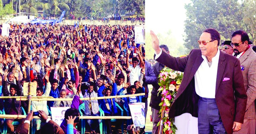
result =
M24 4L20 6L20 9L22 11L28 11L28 13L35 13L35 14L37 14L38 8L42 8L43 10L45 10L45 9L48 9L49 6L40 1L36 2L35 0L27 0Z

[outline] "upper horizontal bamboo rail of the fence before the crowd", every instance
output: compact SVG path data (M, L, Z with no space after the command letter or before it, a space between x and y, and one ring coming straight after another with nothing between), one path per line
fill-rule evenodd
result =
M143 96L145 93L137 93L133 95L117 95L117 96L103 96L103 97L91 97L91 100L101 100L108 98L125 98L134 96ZM27 101L28 98L16 98L17 101ZM80 98L81 101L90 100L90 98ZM31 98L31 101L73 101L73 98Z

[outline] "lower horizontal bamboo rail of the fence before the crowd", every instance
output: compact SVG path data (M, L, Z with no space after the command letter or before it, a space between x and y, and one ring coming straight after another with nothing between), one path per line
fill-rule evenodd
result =
M11 114L0 114L0 118L8 119L23 119L26 118L25 115L11 115ZM52 118L48 116L48 118ZM80 116L80 119L132 119L130 116ZM38 116L34 116L34 119L40 119Z

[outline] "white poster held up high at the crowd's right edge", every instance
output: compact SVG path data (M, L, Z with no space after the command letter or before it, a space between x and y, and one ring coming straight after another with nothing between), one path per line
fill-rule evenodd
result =
M145 26L144 25L134 26L134 32L135 32L135 43L145 44Z

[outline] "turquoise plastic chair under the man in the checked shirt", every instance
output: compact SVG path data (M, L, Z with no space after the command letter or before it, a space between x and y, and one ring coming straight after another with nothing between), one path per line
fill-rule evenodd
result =
M79 106L79 113L80 113L80 116L83 116L83 113L81 110L85 110L85 105L84 103L80 104ZM102 109L100 109L100 116L104 116L104 112L102 111ZM86 125L86 122L85 122L85 119L81 119L81 133L84 134L85 133L85 125ZM103 125L102 125L102 120L101 120L101 123L100 123L100 134L103 134Z

